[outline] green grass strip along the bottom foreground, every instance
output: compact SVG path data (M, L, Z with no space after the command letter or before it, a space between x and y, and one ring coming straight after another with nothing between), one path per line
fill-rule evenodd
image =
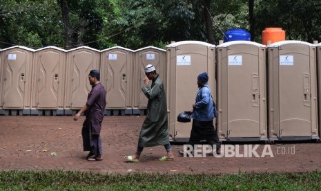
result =
M321 190L321 172L284 174L97 174L2 171L0 190Z

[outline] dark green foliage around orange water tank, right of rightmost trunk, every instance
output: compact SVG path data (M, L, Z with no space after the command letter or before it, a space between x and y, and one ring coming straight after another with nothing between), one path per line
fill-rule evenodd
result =
M280 27L286 30L286 39L310 43L321 40L321 1L260 0L255 10L257 33L266 27Z

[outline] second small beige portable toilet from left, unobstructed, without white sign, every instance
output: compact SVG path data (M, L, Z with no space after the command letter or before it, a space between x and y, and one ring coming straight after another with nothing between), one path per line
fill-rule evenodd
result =
M47 46L35 51L32 69L32 115L64 115L66 51Z

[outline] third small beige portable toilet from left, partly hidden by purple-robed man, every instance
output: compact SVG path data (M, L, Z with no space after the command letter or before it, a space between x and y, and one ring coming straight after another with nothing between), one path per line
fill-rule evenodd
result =
M88 74L93 69L100 71L100 51L81 46L67 52L65 115L75 115L86 104L91 91Z

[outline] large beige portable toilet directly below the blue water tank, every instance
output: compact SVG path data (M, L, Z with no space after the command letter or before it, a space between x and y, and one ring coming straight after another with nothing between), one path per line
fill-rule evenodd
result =
M233 41L216 49L220 140L268 141L266 46Z

